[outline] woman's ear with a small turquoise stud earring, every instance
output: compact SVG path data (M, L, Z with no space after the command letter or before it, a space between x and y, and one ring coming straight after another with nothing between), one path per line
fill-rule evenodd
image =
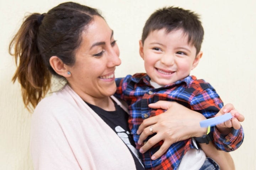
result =
M52 66L53 70L57 74L62 75L65 78L71 76L70 74L68 74L69 70L68 70L67 65L64 64L59 57L52 56L52 57L50 57L49 62L50 62L50 65Z

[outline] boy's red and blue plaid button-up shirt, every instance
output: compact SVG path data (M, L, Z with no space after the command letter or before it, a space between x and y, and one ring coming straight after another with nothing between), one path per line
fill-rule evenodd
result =
M133 133L137 149L141 146L138 144L139 135L136 132L143 119L164 112L162 109L149 108L148 104L150 103L159 100L176 101L187 108L202 113L206 118L214 117L223 107L223 102L215 89L204 80L197 80L194 76L188 76L157 89L152 87L149 81L150 78L145 73L127 75L125 78L116 79L117 91L115 96L125 100L129 105L129 128ZM237 149L244 138L242 127L239 130L233 129L226 136L221 135L216 128L212 127L211 131L213 131L215 146L228 152ZM162 141L142 154L146 169L176 169L183 155L189 149L194 148L191 138L179 141L172 144L160 158L151 160L151 156L158 151L161 144Z

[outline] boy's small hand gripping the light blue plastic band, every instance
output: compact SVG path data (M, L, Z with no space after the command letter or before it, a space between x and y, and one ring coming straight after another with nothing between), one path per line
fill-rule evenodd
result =
M220 109L219 113L217 113L215 117L225 113L229 113L229 112L231 113L233 118L228 121L225 121L224 123L216 125L218 131L221 134L225 134L225 135L229 134L232 130L232 127L234 129L240 129L241 127L240 122L244 121L245 119L244 116L235 109L233 104L230 104L230 103L226 104L222 109Z

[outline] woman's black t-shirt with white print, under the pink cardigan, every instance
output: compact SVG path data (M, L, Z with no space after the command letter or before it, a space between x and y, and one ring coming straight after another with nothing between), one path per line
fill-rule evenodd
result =
M105 111L100 107L87 103L88 106L97 113L102 120L108 124L111 129L123 140L123 142L128 147L130 153L133 156L136 169L144 170L144 166L142 165L141 160L139 159L139 155L137 150L135 149L135 143L133 141L133 137L130 134L130 129L128 127L128 114L120 107L116 102L114 102L116 111Z

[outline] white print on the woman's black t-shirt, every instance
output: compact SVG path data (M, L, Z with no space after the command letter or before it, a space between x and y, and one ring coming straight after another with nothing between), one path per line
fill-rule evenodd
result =
M133 154L135 155L135 157L138 158L140 164L142 164L142 161L139 158L139 154L136 150L136 148L134 146L131 145L128 135L130 134L130 132L126 131L121 127L121 126L116 126L115 128L117 135L124 141L124 143L130 148L130 150L133 152ZM142 164L142 166L144 167L144 165Z

